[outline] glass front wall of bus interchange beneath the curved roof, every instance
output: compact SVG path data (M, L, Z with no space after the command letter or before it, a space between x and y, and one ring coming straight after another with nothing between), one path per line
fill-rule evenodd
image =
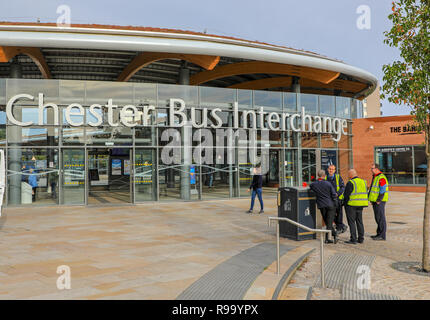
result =
M34 99L16 101L13 117L31 125L18 126L7 120L6 104L19 94ZM112 99L110 111L99 107L106 106L108 99ZM183 113L192 127L169 127L170 119L175 125L183 121L180 114L169 114L171 99L178 106L185 103ZM237 119L236 103L238 112L257 114L264 108L266 114L262 118L241 113ZM126 110L130 105L136 109ZM332 134L295 132L290 121L282 126L279 115L300 114L301 106L312 116L346 119L348 134L336 142ZM351 117L360 114L361 102L343 97L184 85L1 79L0 147L7 155L6 205L247 197L253 163L260 157L267 157L268 162L263 187L266 194L274 194L279 186L313 181L321 168L322 150L334 157L341 170L347 170L352 163ZM134 126L125 126L124 121ZM276 130L267 127L268 121ZM176 137L169 129L180 134ZM190 141L185 141L186 133ZM250 149L253 138L257 143ZM202 151L205 142L210 147ZM413 172L404 177L419 182L424 163L419 163L421 156L414 159L411 168L415 171L404 168Z

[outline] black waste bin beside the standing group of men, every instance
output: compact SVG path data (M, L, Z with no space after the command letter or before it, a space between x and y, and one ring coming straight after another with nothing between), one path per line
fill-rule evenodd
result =
M309 188L278 189L278 217L288 218L306 227L316 228L316 196ZM316 239L316 234L287 221L279 221L279 234L294 240Z

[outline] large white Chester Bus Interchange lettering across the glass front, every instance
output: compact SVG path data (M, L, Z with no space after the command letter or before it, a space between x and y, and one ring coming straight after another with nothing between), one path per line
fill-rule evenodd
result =
M45 125L45 110L52 110L54 117L54 125L59 125L59 107L55 103L45 101L43 93L38 94L38 122L26 121L17 119L13 114L13 108L18 103L28 103L35 101L35 97L29 94L17 94L9 99L6 105L6 116L12 125L16 126L35 126ZM84 117L86 110L89 114ZM118 127L120 125L126 127L135 127L137 125L148 126L152 118L152 112L155 112L155 106L139 106L115 105L113 99L107 99L105 105L92 104L85 108L79 103L69 104L64 111L65 124L79 127L88 125L99 127L108 125ZM186 109L185 102L182 99L169 99L167 122L169 127L184 127L186 124L191 124L194 128L212 128L218 129L223 125L221 119L220 108L200 108L190 107ZM190 111L190 118L188 118ZM197 113L201 113L201 122L197 123ZM348 123L346 119L332 118L328 116L308 115L305 108L302 107L299 113L286 112L266 112L264 107L259 107L258 110L239 110L238 103L232 105L232 126L234 129L239 129L239 123L243 123L241 129L261 129L261 130L292 130L295 132L310 132L310 133L325 133L332 134L334 141L339 141L341 135L347 135ZM117 120L116 114L119 114ZM87 123L84 123L84 118ZM211 119L209 124L208 119ZM257 123L262 126L257 126ZM249 127L248 127L249 124Z

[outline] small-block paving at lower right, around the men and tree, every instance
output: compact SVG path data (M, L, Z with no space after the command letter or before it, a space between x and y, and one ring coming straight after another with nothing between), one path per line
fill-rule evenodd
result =
M365 242L349 245L349 232L340 236L341 241L326 245L326 262L336 254L353 254L360 257L372 256L370 267L370 292L390 295L400 299L430 299L430 276L408 274L394 270L391 265L399 261L421 262L422 219L424 194L391 192L386 207L387 241L374 241L376 223L372 208L364 211ZM344 218L346 222L346 217ZM315 287L320 275L319 252L309 257L292 279L291 286L313 286L312 299L341 299L339 289Z

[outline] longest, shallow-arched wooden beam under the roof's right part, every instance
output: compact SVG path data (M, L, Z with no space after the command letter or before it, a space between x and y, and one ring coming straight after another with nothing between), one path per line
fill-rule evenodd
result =
M249 61L227 64L210 71L199 72L190 78L190 85L199 85L211 80L253 73L284 74L311 79L325 84L332 82L340 75L339 72L322 69L273 62Z

